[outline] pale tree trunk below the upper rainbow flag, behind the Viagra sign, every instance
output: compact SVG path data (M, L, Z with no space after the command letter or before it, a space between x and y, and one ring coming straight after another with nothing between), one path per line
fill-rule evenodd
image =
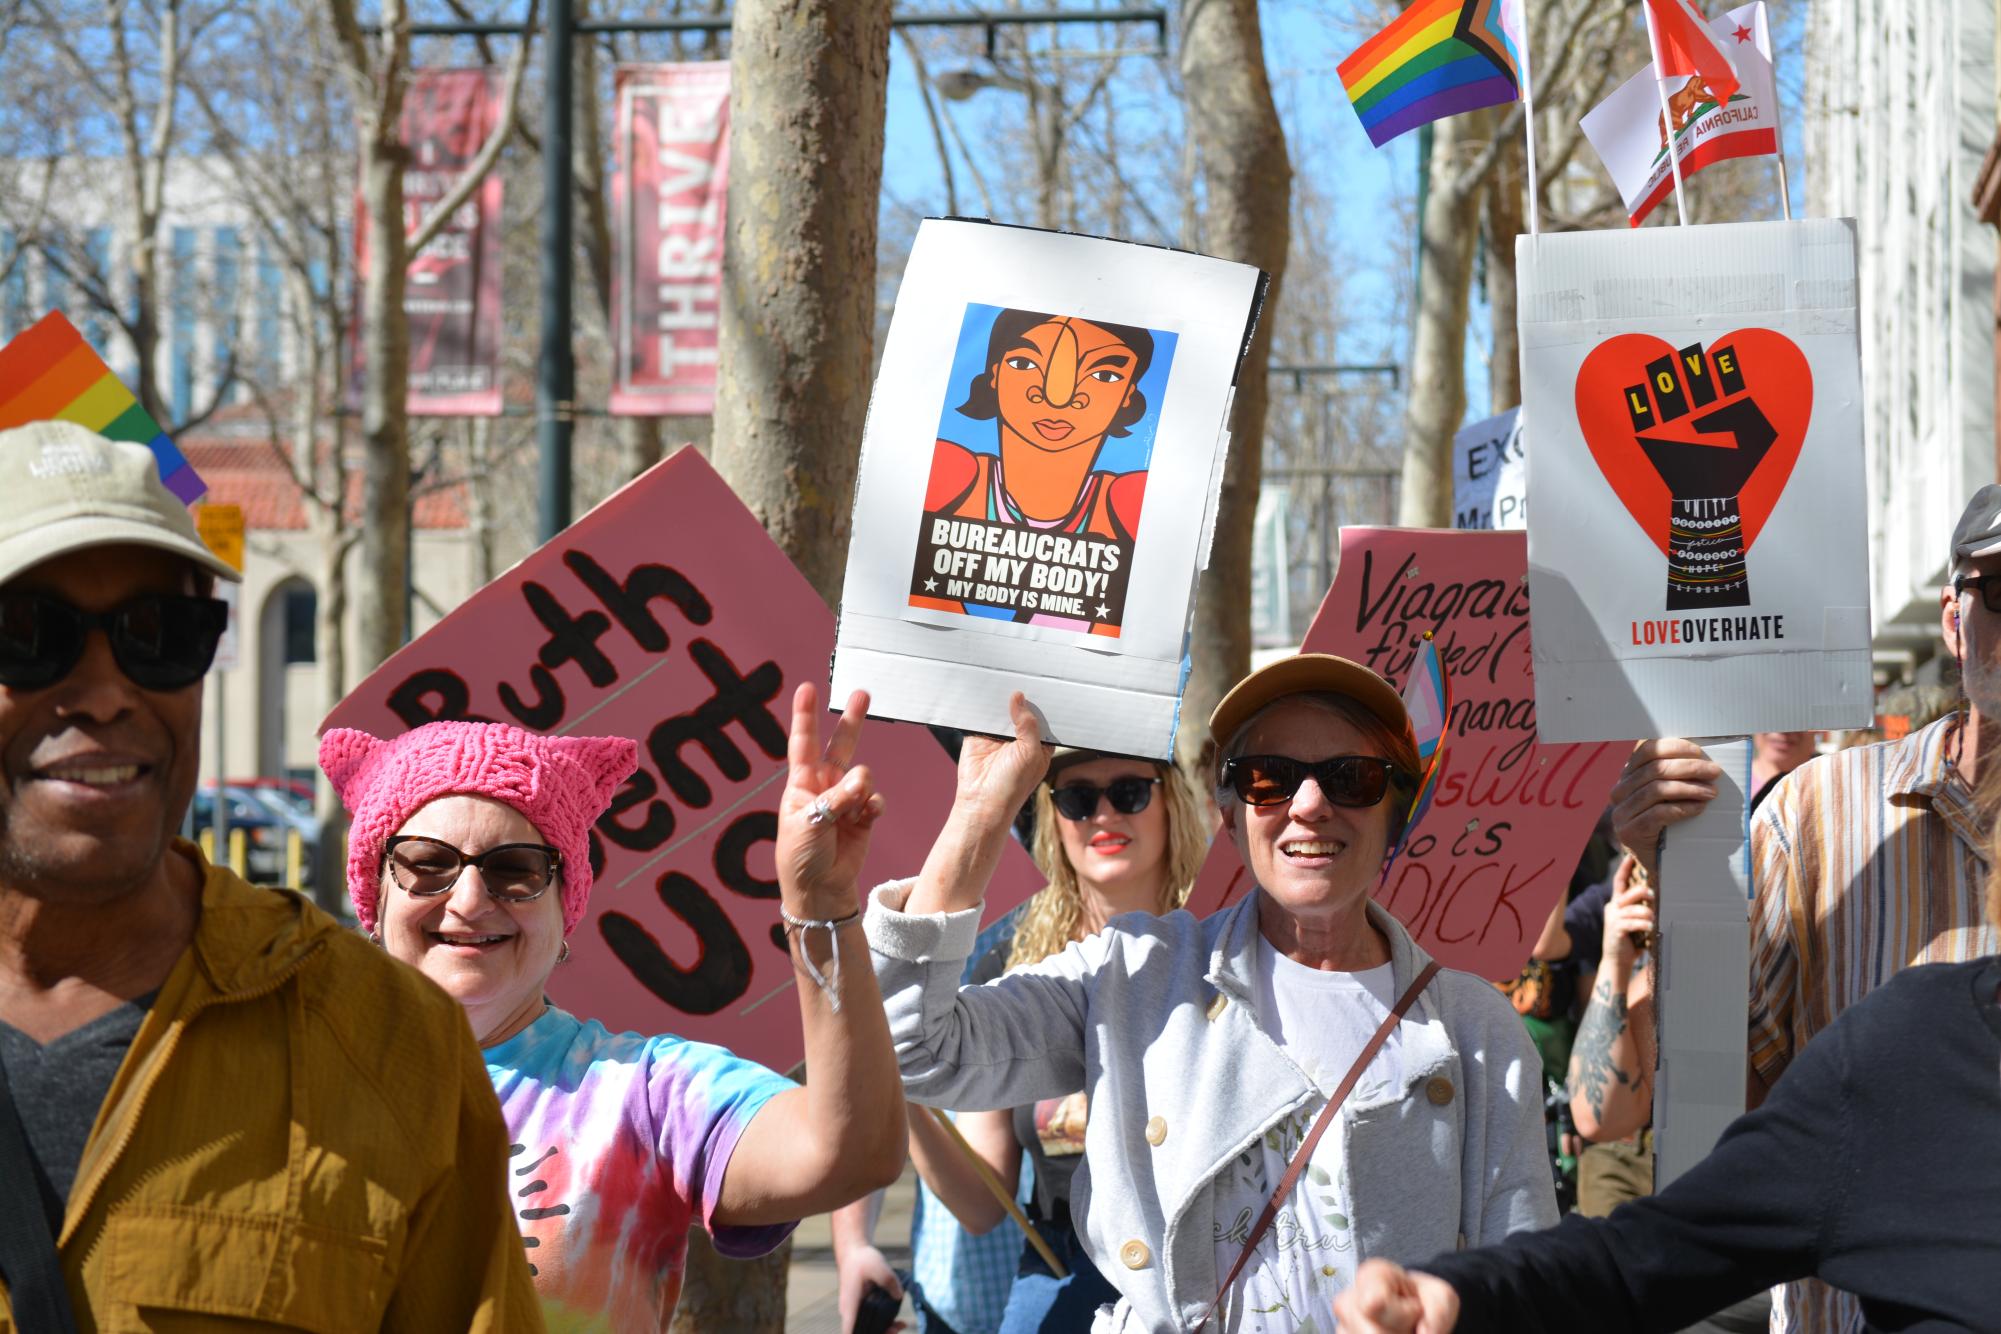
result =
M1453 432L1467 416L1467 294L1479 194L1459 182L1477 122L1447 116L1431 126L1431 190L1419 222L1417 334L1403 412L1405 528L1453 526Z

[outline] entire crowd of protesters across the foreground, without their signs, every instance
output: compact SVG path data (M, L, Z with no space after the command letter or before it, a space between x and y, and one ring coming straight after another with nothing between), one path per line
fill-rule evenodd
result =
M900 1292L854 1202L908 1156L1007 1238L1007 1330L1677 1330L1775 1284L1785 1330L2001 1328L1995 532L1991 486L1941 592L1965 708L1819 758L1759 738L1751 1110L1653 1194L1641 960L1661 838L1721 778L1693 742L1635 748L1617 858L1537 942L1575 998L1511 1004L1373 900L1419 760L1359 664L1239 682L1215 806L1175 766L1053 754L1015 696L924 864L874 888L866 696L822 738L802 686L798 1086L546 998L628 740L328 732L360 932L176 840L234 570L146 448L0 432L0 1326L664 1330L690 1228L746 1256L828 1210L852 1320ZM1049 888L982 938L1023 806ZM1199 920L1217 824L1255 888ZM1553 1060L1519 1012L1565 1008ZM1561 1224L1555 1068L1587 1162L1621 1164ZM956 1280L916 1288L948 1330Z

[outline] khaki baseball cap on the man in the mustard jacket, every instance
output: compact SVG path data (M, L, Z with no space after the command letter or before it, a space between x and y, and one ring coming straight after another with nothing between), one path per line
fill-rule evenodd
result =
M74 422L0 430L0 584L54 556L126 542L186 556L232 584L242 578L202 544L144 444Z

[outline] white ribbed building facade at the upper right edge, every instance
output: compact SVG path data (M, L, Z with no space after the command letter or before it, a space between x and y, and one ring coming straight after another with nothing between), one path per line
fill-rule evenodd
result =
M1939 670L1953 522L1995 480L1995 0L1815 0L1807 212L1855 218L1881 680Z

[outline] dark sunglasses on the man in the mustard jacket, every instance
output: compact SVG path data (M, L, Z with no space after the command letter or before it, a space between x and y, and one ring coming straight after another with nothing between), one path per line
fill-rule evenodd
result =
M134 686L180 690L208 672L228 620L220 598L188 594L156 592L86 612L40 592L0 592L0 686L54 686L76 670L90 632L102 630Z

